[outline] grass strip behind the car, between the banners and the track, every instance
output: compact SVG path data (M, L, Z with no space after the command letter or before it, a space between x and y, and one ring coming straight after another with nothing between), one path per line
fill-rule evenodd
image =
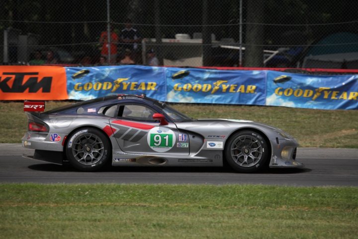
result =
M46 102L46 110L69 104ZM285 130L302 147L358 148L358 110L175 104L193 118L248 119ZM27 129L22 102L0 102L0 143L20 143Z

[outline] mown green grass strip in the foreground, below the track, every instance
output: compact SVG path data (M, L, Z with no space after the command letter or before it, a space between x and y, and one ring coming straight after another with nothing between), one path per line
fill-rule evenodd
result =
M0 184L0 239L356 239L358 188Z

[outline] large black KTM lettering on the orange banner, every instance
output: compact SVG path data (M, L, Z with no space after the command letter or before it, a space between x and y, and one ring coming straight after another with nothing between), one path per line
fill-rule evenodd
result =
M43 93L49 93L51 90L52 77L44 77L38 81L38 72L4 72L3 76L0 76L0 89L4 93L23 93L28 89L29 93L38 92L42 88ZM9 76L9 77L7 77ZM28 79L24 82L25 77ZM12 85L8 84L8 81L13 80Z

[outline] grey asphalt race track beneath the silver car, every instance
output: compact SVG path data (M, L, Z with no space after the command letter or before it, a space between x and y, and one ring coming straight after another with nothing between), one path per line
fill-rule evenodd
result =
M299 148L302 169L268 169L236 173L221 167L111 167L100 172L79 172L62 166L22 158L32 150L20 144L0 144L0 183L167 183L266 184L287 186L358 186L358 149Z

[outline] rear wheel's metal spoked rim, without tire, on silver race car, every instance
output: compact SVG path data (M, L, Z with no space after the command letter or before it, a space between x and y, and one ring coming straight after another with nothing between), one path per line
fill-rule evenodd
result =
M73 142L72 154L81 164L95 164L103 157L103 153L103 142L95 134L80 135Z

